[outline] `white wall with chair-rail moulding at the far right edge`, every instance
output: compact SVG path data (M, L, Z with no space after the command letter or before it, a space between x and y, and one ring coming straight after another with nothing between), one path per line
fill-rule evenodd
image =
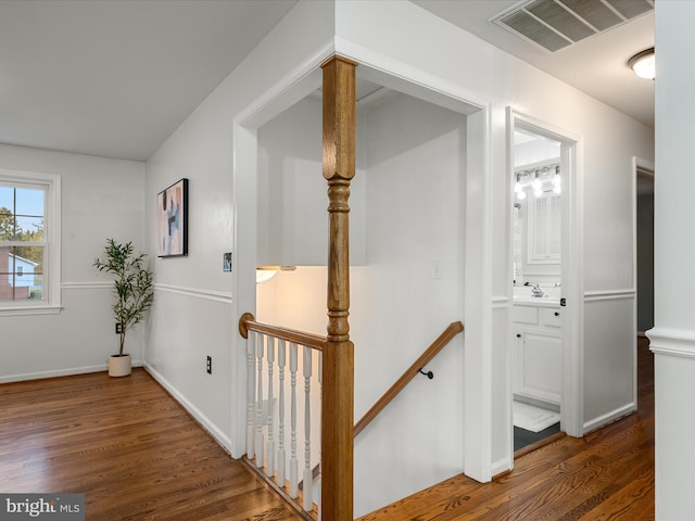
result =
M656 519L695 517L688 483L695 466L695 228L691 225L695 3L659 0L656 9L656 175L654 242Z

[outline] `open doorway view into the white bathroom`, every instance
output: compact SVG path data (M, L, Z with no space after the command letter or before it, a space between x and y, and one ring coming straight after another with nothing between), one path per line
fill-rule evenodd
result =
M561 143L514 130L511 391L514 452L560 430Z

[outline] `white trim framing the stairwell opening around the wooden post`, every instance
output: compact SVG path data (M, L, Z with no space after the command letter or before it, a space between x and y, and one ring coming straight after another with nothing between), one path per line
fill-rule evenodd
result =
M298 69L291 72L280 85L263 93L250 107L235 118L235 316L255 308L255 193L256 129L275 115L306 96L319 84L315 78L318 65L333 50L321 49ZM491 192L491 104L424 72L394 64L369 50L352 49L349 43L337 46L334 52L355 60L357 74L364 79L383 85L421 100L453 110L467 116L468 153L466 155L466 232L465 290L462 300L466 313L466 348L462 397L467 418L465 422L464 472L480 482L492 479L492 192ZM321 60L319 60L321 58ZM244 188L244 192L240 189ZM236 396L232 417L236 419L238 441L232 455L243 454L243 399L245 396L244 357L237 348L232 363L236 377Z

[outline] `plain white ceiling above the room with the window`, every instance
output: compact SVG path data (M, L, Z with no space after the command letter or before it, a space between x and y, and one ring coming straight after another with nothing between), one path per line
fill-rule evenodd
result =
M146 160L289 0L0 0L0 143Z

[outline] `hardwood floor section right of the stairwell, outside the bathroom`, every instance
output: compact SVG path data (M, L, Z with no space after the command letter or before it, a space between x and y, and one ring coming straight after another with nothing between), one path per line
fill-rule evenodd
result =
M653 520L654 359L637 344L635 414L529 453L492 483L457 475L359 521Z

